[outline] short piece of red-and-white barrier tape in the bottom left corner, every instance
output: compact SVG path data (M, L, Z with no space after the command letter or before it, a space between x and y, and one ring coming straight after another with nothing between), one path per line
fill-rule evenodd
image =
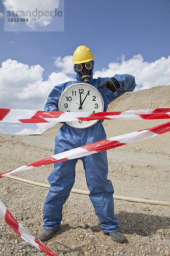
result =
M6 206L0 200L0 217L26 242L32 244L39 250L42 250L44 253L47 253L50 256L59 256L59 254L54 253L48 247L40 243L34 236L32 236L16 219L11 215Z

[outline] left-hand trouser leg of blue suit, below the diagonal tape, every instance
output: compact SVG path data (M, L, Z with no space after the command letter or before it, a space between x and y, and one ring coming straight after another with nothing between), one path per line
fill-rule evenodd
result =
M62 205L67 200L75 181L77 159L54 164L48 177L50 189L44 204L44 229L58 230L62 220Z

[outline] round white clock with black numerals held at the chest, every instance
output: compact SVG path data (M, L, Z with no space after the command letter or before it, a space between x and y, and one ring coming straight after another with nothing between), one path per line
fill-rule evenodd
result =
M59 98L59 111L64 112L102 112L104 103L99 91L91 84L77 83L67 87ZM87 128L98 120L70 121L68 125L75 128Z

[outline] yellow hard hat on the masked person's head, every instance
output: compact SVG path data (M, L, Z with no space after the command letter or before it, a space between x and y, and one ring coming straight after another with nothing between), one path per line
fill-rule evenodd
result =
M77 47L73 55L73 63L79 64L94 60L94 55L91 50L85 45Z

